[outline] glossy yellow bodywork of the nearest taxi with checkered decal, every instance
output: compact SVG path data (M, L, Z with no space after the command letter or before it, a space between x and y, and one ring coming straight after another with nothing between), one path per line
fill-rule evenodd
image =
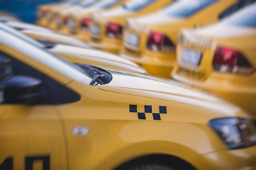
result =
M12 158L14 169L27 170L24 162L32 157L27 164L40 169L43 163L34 160L44 156L48 169L101 170L149 155L154 163L155 155L162 154L166 164L176 164L176 157L181 165L199 170L255 169L255 146L229 150L208 125L215 118L251 118L240 108L174 81L129 72L108 70L110 83L92 86L85 74L77 72L82 79L76 79L78 74L68 74L60 63L70 71L75 67L52 60L58 57L4 30L0 35L1 52L80 96L79 101L63 104L1 103L0 164ZM151 106L153 113L165 106L166 113L161 120L151 113L142 120L129 105L136 105L138 112ZM75 132L76 127L88 131Z

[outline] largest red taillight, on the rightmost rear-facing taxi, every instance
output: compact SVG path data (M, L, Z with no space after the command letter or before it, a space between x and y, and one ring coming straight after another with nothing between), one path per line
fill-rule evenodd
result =
M250 62L240 52L229 47L217 47L213 57L213 68L218 72L233 74L252 74L254 72Z

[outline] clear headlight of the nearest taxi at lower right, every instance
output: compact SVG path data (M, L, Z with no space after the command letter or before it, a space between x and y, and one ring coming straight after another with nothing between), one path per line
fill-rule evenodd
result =
M229 149L256 145L256 128L252 120L221 118L210 120L210 127L217 132Z

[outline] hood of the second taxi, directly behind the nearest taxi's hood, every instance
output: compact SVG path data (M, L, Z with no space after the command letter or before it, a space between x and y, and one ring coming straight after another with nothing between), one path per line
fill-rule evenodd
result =
M123 59L118 55L92 48L75 47L72 45L55 45L50 52L60 55L70 62L95 64L100 67L111 67L114 69L125 69L129 72L146 73L145 69L134 62Z

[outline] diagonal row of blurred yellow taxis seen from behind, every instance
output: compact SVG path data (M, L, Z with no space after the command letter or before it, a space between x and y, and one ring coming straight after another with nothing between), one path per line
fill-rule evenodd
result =
M83 0L41 6L38 25L256 116L255 0Z

